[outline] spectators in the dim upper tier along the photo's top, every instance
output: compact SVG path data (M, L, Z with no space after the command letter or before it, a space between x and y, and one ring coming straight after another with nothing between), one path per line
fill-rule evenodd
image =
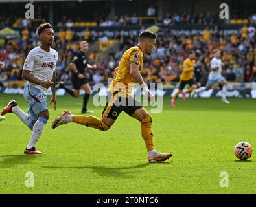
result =
M40 10L39 10L40 12ZM38 18L43 18L42 14L37 14ZM96 23L98 26L102 27L115 27L122 25L139 25L139 17L137 14L132 14L130 16L115 16L111 17L111 15L99 14L96 17ZM197 24L197 25L211 25L218 23L220 20L218 18L218 14L213 15L209 12L200 12L189 14L186 12L183 13L175 13L175 14L165 14L164 17L159 17L156 15L156 10L154 7L150 6L143 17L156 17L157 24L159 26L172 26L172 25L183 25L183 24ZM57 25L60 27L73 27L75 26L76 21L82 21L80 16L74 18L69 16L62 16L60 21L58 21ZM249 24L256 23L256 13L248 17ZM23 19L23 17L17 16L1 16L0 15L0 27L29 27L29 20Z

